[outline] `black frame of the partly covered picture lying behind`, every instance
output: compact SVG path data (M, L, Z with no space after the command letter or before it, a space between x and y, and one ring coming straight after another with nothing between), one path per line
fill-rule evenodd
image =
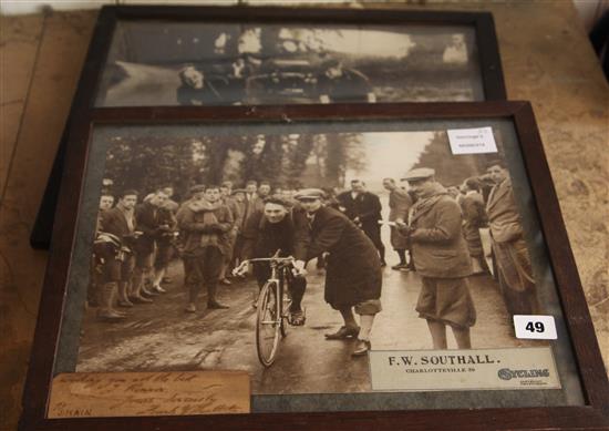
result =
M486 100L505 100L506 91L502 72L502 63L495 34L493 16L488 12L445 12L445 11L409 11L409 10L357 10L357 9L314 9L299 8L259 8L259 7L142 7L142 6L106 6L103 7L95 32L89 48L81 79L74 96L68 124L84 111L95 107L97 86L101 83L106 55L112 43L112 35L120 20L163 19L175 21L215 20L262 21L262 22L319 22L332 24L384 24L395 25L430 24L430 25L473 25L476 29L479 65L483 89ZM51 170L42 203L30 236L34 248L48 248L53 227L59 185L64 168L65 157L64 135Z

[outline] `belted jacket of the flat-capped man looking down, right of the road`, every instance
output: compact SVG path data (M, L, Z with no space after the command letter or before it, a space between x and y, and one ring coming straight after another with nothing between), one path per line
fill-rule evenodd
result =
M447 194L424 198L415 204L410 239L414 265L421 276L458 278L472 274L461 225L461 208Z

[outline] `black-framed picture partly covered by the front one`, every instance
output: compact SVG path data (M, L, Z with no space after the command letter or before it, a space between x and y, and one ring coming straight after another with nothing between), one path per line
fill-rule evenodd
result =
M75 112L109 106L505 100L493 17L251 7L104 7ZM49 244L64 145L32 233Z

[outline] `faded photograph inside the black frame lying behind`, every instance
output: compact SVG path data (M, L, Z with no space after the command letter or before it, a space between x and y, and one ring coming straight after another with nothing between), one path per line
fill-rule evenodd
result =
M96 105L484 99L473 25L120 21Z

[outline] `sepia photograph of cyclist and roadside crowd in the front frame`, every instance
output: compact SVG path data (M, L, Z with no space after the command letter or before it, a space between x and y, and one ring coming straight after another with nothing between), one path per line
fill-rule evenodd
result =
M434 122L261 130L97 130L76 372L245 370L254 397L370 393L375 351L554 350L514 331L514 315L560 311L504 130L497 152L467 155Z

